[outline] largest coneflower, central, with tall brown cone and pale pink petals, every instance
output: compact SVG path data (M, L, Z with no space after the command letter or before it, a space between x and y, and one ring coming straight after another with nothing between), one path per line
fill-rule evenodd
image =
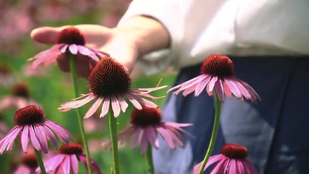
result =
M129 101L137 109L142 109L140 103L148 107L157 108L158 106L155 103L146 100L143 97L157 100L159 99L158 97L153 97L148 93L163 88L166 88L166 86L131 89L131 77L126 68L116 62L113 58L106 57L98 62L89 75L88 89L90 93L74 99L75 101L61 104L58 110L68 111L72 108L78 108L94 99L97 99L97 101L86 112L84 119L87 119L94 114L100 107L101 103L103 103L103 106L100 118L107 114L110 103L114 116L118 117L120 109L122 112L125 112L128 107L128 103L125 98L129 99ZM77 100L80 98L83 99Z

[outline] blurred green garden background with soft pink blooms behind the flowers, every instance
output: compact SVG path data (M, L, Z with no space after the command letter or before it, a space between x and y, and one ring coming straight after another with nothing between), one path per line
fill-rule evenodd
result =
M74 3L74 7L72 6ZM25 72L26 59L38 52L49 48L50 45L42 45L30 40L30 31L38 26L61 26L83 23L102 24L114 27L126 11L130 1L2 1L0 2L0 65L5 65L12 70L14 83L24 82L28 85L30 98L38 102L46 113L46 118L66 127L74 136L75 142L81 142L78 132L75 110L58 112L57 107L74 98L70 76L60 72L55 64L46 69L45 75L29 76ZM17 17L16 17L17 16ZM170 72L154 76L142 76L134 79L132 88L148 88L157 85L163 78L161 85L169 85L174 81L175 75ZM86 79L79 79L79 90L86 94ZM14 84L13 84L14 85ZM0 85L0 99L10 96L12 85ZM153 92L153 96L165 96L167 89ZM165 99L156 102L162 106ZM85 113L89 105L81 108ZM118 131L123 130L130 123L130 113L133 109L131 103L126 113L121 113L118 119ZM10 128L14 126L13 116L16 110L6 109L2 111L3 121ZM107 118L96 119L97 127L91 128L87 133L91 157L100 165L103 173L110 173L111 152L100 149L102 140L108 138L109 129L105 124ZM91 124L90 124L91 125ZM92 125L93 126L93 125ZM90 128L89 128L90 129ZM95 129L95 130L93 130ZM10 169L20 161L21 149L15 142L13 152L5 152L0 155L0 172L10 173ZM49 144L50 148L52 147ZM52 149L51 149L52 150ZM119 148L121 173L146 173L146 162L139 149L132 150L131 143ZM80 166L80 173L85 173Z

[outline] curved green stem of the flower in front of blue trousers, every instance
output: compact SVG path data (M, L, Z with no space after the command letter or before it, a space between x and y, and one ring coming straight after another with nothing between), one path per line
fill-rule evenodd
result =
M205 165L208 161L208 158L210 157L210 155L212 153L214 143L215 143L215 139L217 138L217 134L218 134L219 124L220 124L220 112L221 112L221 102L218 98L217 93L214 92L214 122L213 122L213 128L212 128L209 146L208 146L205 158L203 160L203 163L201 165L201 168L199 170L199 174L203 173L203 170L204 170L204 167L205 167Z

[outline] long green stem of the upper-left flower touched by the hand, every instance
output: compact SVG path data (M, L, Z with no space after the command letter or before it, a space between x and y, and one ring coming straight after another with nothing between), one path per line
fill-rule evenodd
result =
M74 95L75 95L75 98L77 98L79 93L78 93L78 88L77 88L77 76L76 76L75 62L76 62L75 55L70 54L71 80L73 84ZM85 133L84 125L83 125L83 120L82 120L79 108L76 108L75 110L76 110L76 115L77 115L79 131L80 131L81 138L83 140L83 146L85 149L88 173L91 174L90 155L89 155L89 149L88 149L87 140L86 140L86 133Z

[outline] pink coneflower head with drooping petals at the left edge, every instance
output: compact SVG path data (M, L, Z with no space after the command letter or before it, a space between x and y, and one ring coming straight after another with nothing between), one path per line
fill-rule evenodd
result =
M47 140L51 140L54 148L57 149L57 140L54 133L62 143L71 141L72 136L64 127L46 120L44 117L44 111L36 105L17 110L14 115L14 124L16 126L0 139L0 154L3 154L5 150L12 150L13 143L18 135L19 144L24 153L27 152L29 141L32 142L36 150L44 153L48 152Z

